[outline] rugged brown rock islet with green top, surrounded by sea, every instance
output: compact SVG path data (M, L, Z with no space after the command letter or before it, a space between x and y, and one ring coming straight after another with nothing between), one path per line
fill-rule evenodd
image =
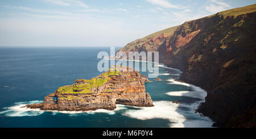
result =
M45 96L43 103L26 107L58 111L112 110L115 104L150 107L152 99L145 93L145 81L147 77L137 70L112 66L90 80L77 79L73 85L59 87L55 93Z

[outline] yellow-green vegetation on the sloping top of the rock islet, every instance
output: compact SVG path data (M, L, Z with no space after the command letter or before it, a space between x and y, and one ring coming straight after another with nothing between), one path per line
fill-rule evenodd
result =
M107 71L105 73L102 73L98 77L94 77L92 79L77 79L77 81L82 81L84 83L74 83L73 85L63 86L59 87L57 89L58 92L61 94L88 94L91 93L94 88L98 88L104 83L108 82L110 79L110 76L113 75L119 75L120 71ZM68 98L68 100L71 98Z

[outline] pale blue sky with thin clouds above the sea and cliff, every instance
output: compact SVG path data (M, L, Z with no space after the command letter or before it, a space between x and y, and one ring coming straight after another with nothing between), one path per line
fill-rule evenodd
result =
M0 46L112 46L256 0L0 0Z

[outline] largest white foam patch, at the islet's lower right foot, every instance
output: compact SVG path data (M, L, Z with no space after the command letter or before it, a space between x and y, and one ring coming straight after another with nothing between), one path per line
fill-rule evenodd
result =
M170 127L183 128L183 127L211 127L212 121L205 118L199 117L195 120L187 120L185 116L195 115L192 111L185 111L179 109L178 107L188 107L185 104L176 104L168 101L157 101L154 102L154 107L135 107L139 109L128 109L122 115L139 119L139 120L149 120L149 119L166 119L170 121ZM202 124L203 123L203 124Z

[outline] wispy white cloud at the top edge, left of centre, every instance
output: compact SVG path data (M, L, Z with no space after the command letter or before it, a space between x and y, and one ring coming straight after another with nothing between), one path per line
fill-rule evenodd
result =
M87 8L88 5L85 5L84 2L78 1L78 0L45 0L47 2L55 3L56 5L62 5L62 6L79 6Z

